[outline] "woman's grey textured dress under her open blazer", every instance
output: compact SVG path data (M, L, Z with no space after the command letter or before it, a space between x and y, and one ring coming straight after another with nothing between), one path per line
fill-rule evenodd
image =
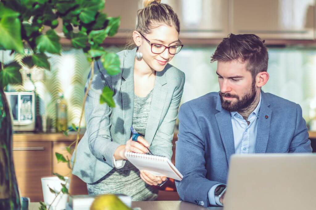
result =
M134 95L133 127L145 136L151 105L152 90L146 97ZM158 190L146 184L139 176L139 170L126 161L123 168L113 168L95 183L87 184L90 195L125 194L133 201L152 201L157 198Z

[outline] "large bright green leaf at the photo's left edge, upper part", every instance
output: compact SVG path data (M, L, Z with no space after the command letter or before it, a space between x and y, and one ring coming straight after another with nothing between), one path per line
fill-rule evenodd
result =
M21 22L18 18L1 18L0 20L0 45L7 50L16 50L23 53L21 39Z

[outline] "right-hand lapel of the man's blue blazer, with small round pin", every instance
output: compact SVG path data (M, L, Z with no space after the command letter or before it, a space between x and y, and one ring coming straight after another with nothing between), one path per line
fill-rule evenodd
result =
M265 93L261 91L261 105L258 114L258 129L256 140L256 153L265 153L269 140L271 114L270 104L266 99Z

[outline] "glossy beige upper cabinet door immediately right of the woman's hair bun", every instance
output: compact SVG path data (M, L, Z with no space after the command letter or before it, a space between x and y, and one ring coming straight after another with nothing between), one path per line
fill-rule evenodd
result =
M223 38L228 35L228 0L162 0L180 20L180 38Z

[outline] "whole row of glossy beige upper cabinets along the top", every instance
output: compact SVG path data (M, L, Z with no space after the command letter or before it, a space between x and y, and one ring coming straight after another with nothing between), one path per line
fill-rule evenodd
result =
M106 0L104 12L121 16L116 38L131 37L142 0ZM179 16L180 38L222 39L254 33L270 40L315 39L315 0L161 0Z

